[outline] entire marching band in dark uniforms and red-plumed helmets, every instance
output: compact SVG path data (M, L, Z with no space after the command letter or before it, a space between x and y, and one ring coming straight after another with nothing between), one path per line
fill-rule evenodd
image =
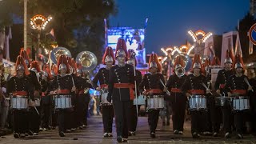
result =
M192 67L185 71L182 56L174 61L173 75L165 82L157 54L151 54L147 74L136 70L133 50L118 39L116 51L106 47L102 64L94 79L85 77L82 65L66 55L58 63L45 65L30 62L22 50L15 65L16 74L6 82L6 98L10 98L14 138L38 135L39 130L58 126L61 137L87 126L90 102L88 91L100 92L103 137L112 137L115 121L117 141L127 142L137 131L138 111L146 106L149 134L156 137L159 111L170 104L174 134L183 134L186 111L191 115L193 138L213 135L237 138L246 133L246 122L256 133L256 78L254 68L245 70L239 54L226 51L225 66L217 78L209 68L220 67L217 57L204 63L194 54ZM246 76L245 71L247 71ZM213 81L215 83L213 83ZM213 88L211 88L213 87Z

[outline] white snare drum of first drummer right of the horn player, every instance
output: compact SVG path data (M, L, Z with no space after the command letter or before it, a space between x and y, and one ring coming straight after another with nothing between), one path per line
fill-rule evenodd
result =
M190 111L206 110L206 96L204 95L191 95L189 102Z

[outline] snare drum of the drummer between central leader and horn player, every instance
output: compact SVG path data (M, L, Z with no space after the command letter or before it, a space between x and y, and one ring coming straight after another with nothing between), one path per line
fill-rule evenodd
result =
M146 100L148 110L161 110L165 106L163 95L150 95Z

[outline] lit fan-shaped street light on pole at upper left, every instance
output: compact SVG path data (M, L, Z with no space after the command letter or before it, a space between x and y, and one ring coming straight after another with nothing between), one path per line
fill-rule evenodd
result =
M33 18L30 18L30 25L32 26L32 29L38 30L38 50L40 50L40 34L41 34L41 31L45 30L46 25L52 19L53 18L51 16L46 18L41 14L34 15ZM35 60L37 60L37 56L35 56Z

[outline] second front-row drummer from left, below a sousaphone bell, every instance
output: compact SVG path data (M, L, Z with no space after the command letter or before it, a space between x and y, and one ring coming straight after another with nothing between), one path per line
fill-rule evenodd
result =
M50 94L61 94L71 96L71 91L75 91L75 86L70 74L70 66L67 63L66 56L61 55L58 58L57 77L54 77L52 85L50 86ZM56 104L55 104L56 105ZM65 121L70 117L70 109L59 109L58 111L58 134L65 137L68 123Z

